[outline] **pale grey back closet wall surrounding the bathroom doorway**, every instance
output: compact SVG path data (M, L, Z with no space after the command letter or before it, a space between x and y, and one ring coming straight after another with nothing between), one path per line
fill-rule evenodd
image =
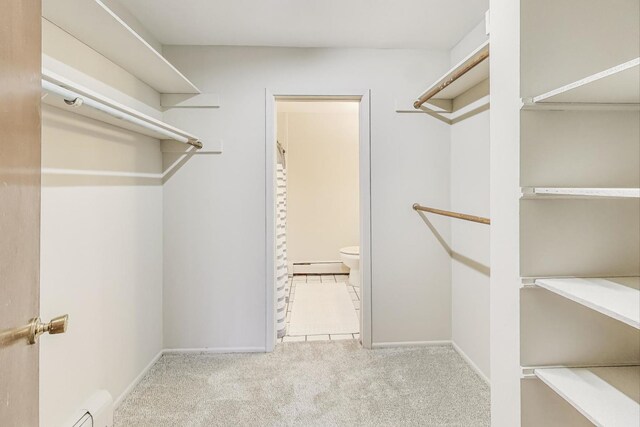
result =
M412 209L449 205L449 130L394 112L448 67L423 50L165 46L222 106L222 156L194 157L164 187L167 347L264 349L265 89L371 89L373 342L451 338L450 262ZM169 162L165 155L165 161ZM442 238L449 221L432 218ZM170 303L169 303L170 302Z

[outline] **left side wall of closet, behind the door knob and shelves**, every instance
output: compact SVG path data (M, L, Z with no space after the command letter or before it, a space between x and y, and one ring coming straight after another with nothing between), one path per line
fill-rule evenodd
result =
M43 36L45 66L159 114L151 88L47 21ZM42 167L40 314L69 314L66 334L40 342L41 425L58 427L97 389L120 397L162 349L162 154L43 105Z

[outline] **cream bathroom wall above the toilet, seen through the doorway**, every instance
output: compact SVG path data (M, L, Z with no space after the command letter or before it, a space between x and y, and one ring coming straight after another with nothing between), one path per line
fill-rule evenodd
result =
M280 101L277 108L287 152L289 262L333 262L340 272L340 248L360 244L359 103Z

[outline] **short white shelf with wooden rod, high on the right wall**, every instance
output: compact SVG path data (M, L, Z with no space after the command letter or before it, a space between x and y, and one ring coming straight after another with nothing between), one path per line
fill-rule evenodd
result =
M436 80L419 97L429 100L452 100L489 78L489 41L481 44L462 61ZM419 102L418 101L418 102Z

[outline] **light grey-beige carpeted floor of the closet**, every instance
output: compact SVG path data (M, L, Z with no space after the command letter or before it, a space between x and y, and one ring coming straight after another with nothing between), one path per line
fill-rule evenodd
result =
M115 414L126 427L489 424L489 388L451 347L355 340L164 355Z

